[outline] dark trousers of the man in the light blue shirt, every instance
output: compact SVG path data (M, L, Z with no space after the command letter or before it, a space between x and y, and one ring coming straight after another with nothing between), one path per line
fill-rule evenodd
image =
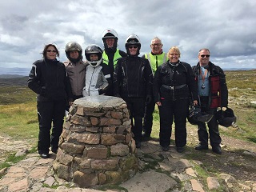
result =
M215 114L217 112L217 108L210 109L208 101L208 97L200 97L200 105L202 112L206 112L207 114ZM209 134L206 129L206 123L198 123L198 139L200 144L202 146L208 146L208 138L210 138L210 146L219 146L220 143L222 142L222 138L220 137L218 131L218 122L215 115L210 120L210 122L207 122L207 126L209 128Z

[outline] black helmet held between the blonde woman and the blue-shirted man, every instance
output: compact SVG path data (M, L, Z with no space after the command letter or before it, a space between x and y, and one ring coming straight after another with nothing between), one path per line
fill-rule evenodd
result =
M213 117L213 114L202 112L199 106L191 106L187 120L192 125L198 125L198 122L210 122L210 119Z

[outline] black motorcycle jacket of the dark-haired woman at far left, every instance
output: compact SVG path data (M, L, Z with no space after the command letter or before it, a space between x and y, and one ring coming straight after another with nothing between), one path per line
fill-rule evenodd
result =
M65 99L72 101L70 80L58 60L42 59L33 63L28 86L38 94L38 102Z

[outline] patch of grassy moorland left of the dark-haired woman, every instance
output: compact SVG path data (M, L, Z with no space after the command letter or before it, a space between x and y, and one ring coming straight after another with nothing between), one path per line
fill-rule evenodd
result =
M14 139L36 140L38 136L36 94L24 86L3 86L0 90L1 134L9 135Z

